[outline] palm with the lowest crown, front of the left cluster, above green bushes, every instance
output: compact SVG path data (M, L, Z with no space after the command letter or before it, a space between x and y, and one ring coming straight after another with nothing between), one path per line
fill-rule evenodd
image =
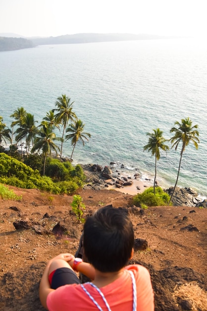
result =
M42 155L44 156L44 168L43 175L45 176L45 166L46 158L48 155L52 156L52 151L57 155L59 147L54 144L53 141L62 141L62 138L56 137L55 133L52 132L52 126L49 123L42 124L42 127L38 131L38 136L35 138L34 147L32 152L42 150Z

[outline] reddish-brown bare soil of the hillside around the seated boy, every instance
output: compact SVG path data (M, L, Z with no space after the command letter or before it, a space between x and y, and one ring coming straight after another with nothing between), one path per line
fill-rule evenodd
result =
M41 311L38 288L44 266L61 252L75 253L83 224L71 213L73 197L10 188L22 200L0 199L0 310ZM135 251L133 261L151 272L155 310L183 310L172 297L176 284L197 281L207 290L207 209L152 207L142 215L132 207L132 196L119 191L82 190L80 195L85 216L108 204L129 210L135 238L148 242L147 249ZM16 230L13 223L20 220L41 225L46 233ZM66 226L67 233L52 233L58 222Z

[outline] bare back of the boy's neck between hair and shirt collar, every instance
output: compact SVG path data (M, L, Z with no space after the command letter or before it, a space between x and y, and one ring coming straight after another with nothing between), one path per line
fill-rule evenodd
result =
M100 288L117 280L123 274L124 270L121 269L116 272L101 272L99 270L95 271L95 279L92 283Z

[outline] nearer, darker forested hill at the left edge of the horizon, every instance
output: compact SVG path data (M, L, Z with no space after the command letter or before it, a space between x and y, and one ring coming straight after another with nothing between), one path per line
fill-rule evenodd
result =
M24 38L0 37L0 51L20 50L33 48L34 46L32 41Z

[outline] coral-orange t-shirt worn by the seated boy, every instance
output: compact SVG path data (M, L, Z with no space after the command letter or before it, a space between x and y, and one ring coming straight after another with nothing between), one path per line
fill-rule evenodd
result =
M133 310L133 288L130 270L134 273L137 286L137 311L154 311L154 293L149 271L141 265L129 265L114 282L100 288L111 311ZM103 298L90 284L84 284L103 310ZM97 311L94 302L84 292L80 284L64 285L51 292L47 298L49 311Z

